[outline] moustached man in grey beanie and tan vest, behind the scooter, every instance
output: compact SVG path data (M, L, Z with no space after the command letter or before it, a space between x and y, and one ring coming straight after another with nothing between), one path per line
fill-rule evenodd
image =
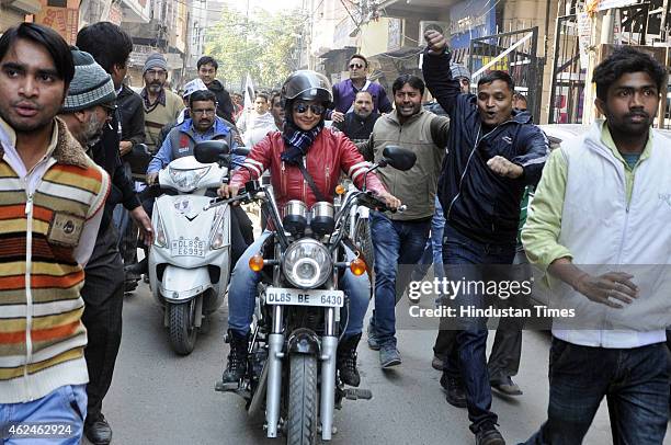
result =
M145 140L149 151L155 153L160 147L161 129L177 121L184 104L179 95L166 89L168 62L162 54L153 53L147 57L143 78L145 88L140 98L145 103ZM147 171L147 166L144 167L143 173Z

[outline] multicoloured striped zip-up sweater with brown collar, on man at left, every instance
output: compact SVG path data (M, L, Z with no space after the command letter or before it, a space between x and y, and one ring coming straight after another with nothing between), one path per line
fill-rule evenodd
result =
M75 252L110 180L57 124L57 141L33 193L0 146L0 403L88 381L84 271Z

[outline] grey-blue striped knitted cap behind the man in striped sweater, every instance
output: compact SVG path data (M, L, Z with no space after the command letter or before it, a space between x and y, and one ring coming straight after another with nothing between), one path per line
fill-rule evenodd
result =
M75 78L70 82L62 112L72 113L114 102L116 92L112 76L98 65L89 53L79 50L76 46L70 50L75 61Z

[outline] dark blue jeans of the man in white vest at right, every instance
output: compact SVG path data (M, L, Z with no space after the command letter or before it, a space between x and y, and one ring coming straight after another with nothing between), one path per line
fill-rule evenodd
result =
M605 396L614 444L661 445L669 421L667 355L664 343L618 350L553 338L548 420L526 444L581 444Z

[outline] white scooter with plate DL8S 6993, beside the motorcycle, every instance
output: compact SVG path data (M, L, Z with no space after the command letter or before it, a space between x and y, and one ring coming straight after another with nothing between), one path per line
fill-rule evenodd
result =
M200 142L194 152L221 150L221 144L227 147L224 141ZM153 204L149 284L164 309L170 344L182 355L193 351L204 317L221 306L228 286L230 208L204 209L212 198L205 196L207 190L218 189L227 179L228 158L207 164L193 156L178 158L158 176L166 194Z

